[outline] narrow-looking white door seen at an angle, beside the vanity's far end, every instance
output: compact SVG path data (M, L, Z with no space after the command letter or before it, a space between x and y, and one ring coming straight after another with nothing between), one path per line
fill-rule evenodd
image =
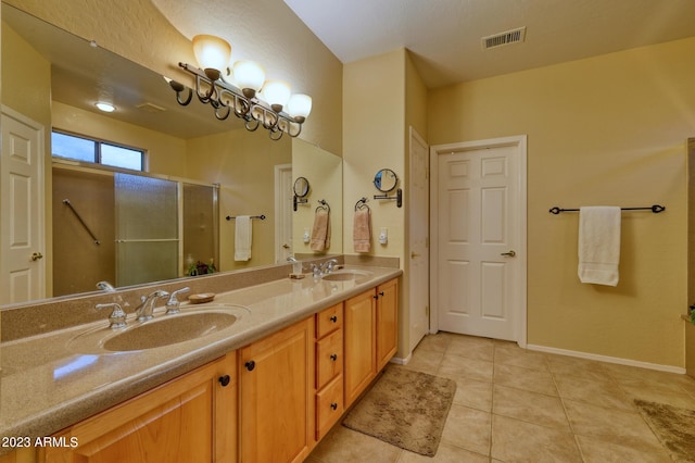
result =
M410 175L408 176L408 304L410 314L409 351L427 334L429 317L429 179L425 140L410 128Z

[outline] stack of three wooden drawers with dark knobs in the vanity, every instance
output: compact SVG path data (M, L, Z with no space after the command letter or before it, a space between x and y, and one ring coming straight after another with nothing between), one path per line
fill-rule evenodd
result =
M316 441L343 414L343 304L316 314Z

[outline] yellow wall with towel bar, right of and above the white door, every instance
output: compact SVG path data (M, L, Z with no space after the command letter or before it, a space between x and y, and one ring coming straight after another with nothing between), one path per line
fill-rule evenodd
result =
M684 366L695 38L432 90L429 142L528 135L528 342ZM577 277L578 215L626 212L620 283Z

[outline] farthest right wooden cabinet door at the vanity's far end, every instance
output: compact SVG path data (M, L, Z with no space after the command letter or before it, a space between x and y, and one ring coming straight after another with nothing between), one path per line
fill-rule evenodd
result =
M399 343L399 284L392 279L377 287L377 371L391 360Z

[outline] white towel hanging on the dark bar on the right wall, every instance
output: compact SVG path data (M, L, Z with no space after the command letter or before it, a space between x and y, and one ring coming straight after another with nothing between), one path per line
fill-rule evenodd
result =
M620 208L579 209L579 279L617 286L620 263Z

